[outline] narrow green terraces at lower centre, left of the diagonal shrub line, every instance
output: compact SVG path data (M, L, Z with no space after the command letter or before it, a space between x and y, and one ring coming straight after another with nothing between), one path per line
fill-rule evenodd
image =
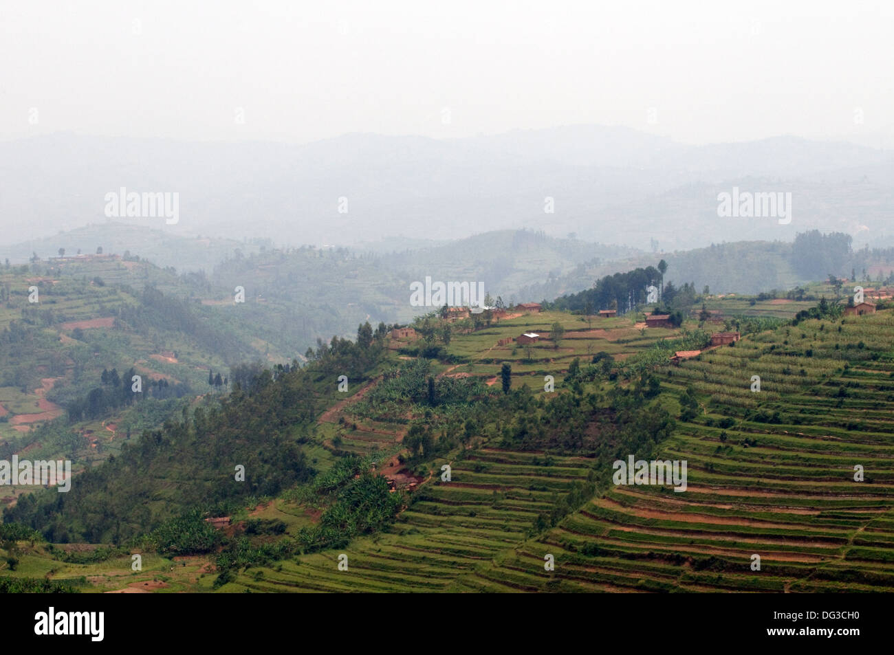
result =
M489 575L493 558L523 542L536 516L583 487L587 473L585 458L480 449L452 463L450 483L434 476L416 491L417 502L391 531L345 550L283 561L261 569L260 580L250 573L229 586L257 592L510 591ZM342 552L347 572L337 567Z

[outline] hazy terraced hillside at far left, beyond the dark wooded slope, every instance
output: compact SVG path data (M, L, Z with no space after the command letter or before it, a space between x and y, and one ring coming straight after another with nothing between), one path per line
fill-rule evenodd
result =
M126 273L124 264L79 264L82 275L0 270L0 458L70 458L80 472L118 452L131 432L222 392L208 385L209 371L227 376L229 365L260 356L248 331L208 321L214 310L98 274ZM19 491L4 485L0 499Z

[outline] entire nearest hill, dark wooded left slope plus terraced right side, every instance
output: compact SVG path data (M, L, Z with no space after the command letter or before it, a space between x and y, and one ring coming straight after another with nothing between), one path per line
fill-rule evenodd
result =
M7 509L8 530L38 535L0 544L4 575L80 591L891 591L894 310L778 299L704 299L738 323L732 346L708 347L726 326L696 302L678 328L640 311L430 315L422 340L380 326L302 367L236 367L238 389L142 431L62 499ZM628 456L687 462L685 491L617 485ZM133 552L151 566L119 570Z

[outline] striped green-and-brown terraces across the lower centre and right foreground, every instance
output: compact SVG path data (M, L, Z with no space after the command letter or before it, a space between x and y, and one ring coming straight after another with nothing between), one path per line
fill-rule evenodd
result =
M687 460L685 492L614 486L585 457L483 443L451 462L450 483L433 467L392 531L224 589L892 591L892 343L886 311L805 321L663 367L663 401L679 413L691 387L698 406L656 453ZM581 493L583 507L549 527Z

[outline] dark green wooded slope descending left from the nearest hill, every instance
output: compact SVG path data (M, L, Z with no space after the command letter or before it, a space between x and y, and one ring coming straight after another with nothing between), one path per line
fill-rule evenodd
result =
M252 390L233 390L125 443L118 456L79 474L68 493L23 496L4 521L30 525L52 542L121 543L188 509L239 506L306 482L314 468L300 443L316 417L312 374L293 368L259 375ZM104 392L121 394L109 376ZM236 480L236 465L245 467L244 481ZM163 496L163 504L146 502Z

